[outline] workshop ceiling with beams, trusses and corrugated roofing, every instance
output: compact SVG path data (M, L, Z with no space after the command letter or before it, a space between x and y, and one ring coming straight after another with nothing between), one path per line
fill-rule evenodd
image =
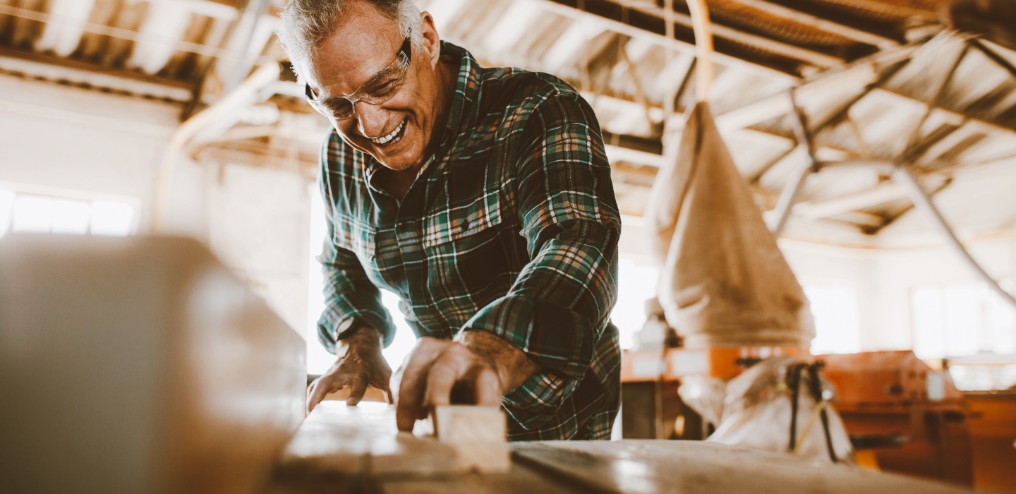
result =
M0 0L0 72L178 101L187 116L281 57L272 30L282 3ZM483 64L551 72L582 91L600 120L622 210L642 214L695 94L683 0L671 11L670 0L417 3L443 39ZM710 104L756 201L771 209L807 161L791 87L830 165L809 178L785 235L865 246L924 239L930 229L895 227L912 215L890 177L902 162L919 167L922 185L961 231L1016 224L1016 194L1003 186L1016 186L1016 53L944 33L946 3L708 0ZM277 115L253 112L193 152L313 173L327 123L298 89L288 77L270 100Z

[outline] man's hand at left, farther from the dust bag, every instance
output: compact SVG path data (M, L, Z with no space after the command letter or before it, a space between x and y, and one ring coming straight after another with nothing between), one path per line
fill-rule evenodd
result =
M350 397L345 405L357 405L371 385L384 391L385 399L391 404L391 390L388 380L391 378L391 368L381 354L381 333L376 329L361 326L353 330L346 337L338 341L335 354L338 360L311 383L307 391L307 414L332 392L350 388Z

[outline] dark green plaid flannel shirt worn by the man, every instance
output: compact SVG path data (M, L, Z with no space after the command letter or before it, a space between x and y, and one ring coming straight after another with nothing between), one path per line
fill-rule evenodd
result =
M343 331L393 335L379 289L418 336L491 331L542 368L503 400L511 440L608 439L621 397L617 298L621 222L599 126L564 81L459 66L439 150L400 200L381 165L333 130L321 152L328 237L318 257L328 351Z

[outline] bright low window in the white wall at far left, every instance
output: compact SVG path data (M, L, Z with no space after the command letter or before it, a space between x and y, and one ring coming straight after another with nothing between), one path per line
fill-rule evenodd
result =
M0 237L7 232L123 237L134 228L134 206L127 202L0 190Z

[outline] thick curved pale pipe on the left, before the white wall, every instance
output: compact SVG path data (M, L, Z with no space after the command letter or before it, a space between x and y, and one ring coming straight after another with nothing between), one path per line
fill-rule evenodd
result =
M155 182L155 202L152 207L151 231L154 234L163 233L163 223L166 219L166 207L169 201L170 186L173 183L173 173L177 166L181 152L187 143L201 130L214 124L219 119L236 112L246 105L255 103L260 95L261 88L278 80L280 73L278 63L272 62L262 65L240 83L232 92L224 96L217 102L187 119L177 127L170 137L170 143L163 153L163 163L158 170L158 177Z

